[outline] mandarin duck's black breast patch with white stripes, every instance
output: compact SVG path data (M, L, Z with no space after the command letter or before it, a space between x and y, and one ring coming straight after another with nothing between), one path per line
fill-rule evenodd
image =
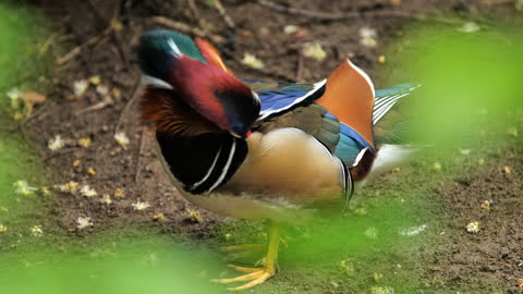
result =
M229 134L156 137L169 171L191 194L207 194L226 184L247 155L247 143Z

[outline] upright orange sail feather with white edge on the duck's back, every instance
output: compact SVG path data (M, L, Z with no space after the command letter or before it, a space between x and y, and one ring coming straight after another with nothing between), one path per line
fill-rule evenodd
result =
M374 85L367 74L346 60L327 78L327 89L316 103L327 108L374 148Z

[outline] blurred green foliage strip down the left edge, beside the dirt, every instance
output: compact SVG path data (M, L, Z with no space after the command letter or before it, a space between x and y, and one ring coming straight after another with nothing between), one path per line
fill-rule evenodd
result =
M9 89L22 87L32 81L29 77L41 76L51 66L45 54L36 58L35 44L48 36L45 27L42 19L33 11L5 2L0 4L0 223L8 230L0 233L0 252L17 244L20 236L37 224L34 221L48 213L46 206L35 199L36 192L29 196L14 192L16 181L40 186L44 176L29 144L12 131L15 125L7 97Z

